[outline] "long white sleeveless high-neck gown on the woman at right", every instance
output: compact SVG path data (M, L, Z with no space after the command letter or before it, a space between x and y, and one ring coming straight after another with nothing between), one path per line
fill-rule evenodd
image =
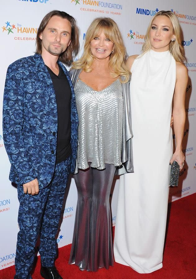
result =
M169 51L150 50L135 59L131 72L134 173L120 176L114 258L150 273L162 268L176 62Z

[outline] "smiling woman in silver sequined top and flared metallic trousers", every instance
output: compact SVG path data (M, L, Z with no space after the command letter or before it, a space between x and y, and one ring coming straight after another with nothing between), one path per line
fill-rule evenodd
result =
M129 71L118 26L93 20L70 71L76 94L78 201L69 263L96 271L113 265L110 189L114 173L133 172ZM79 171L79 172L78 172Z

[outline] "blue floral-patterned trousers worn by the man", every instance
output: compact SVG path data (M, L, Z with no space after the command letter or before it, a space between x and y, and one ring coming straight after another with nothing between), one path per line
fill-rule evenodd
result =
M40 256L44 267L54 266L57 255L55 235L58 230L65 188L70 172L70 157L57 164L50 184L40 189L39 194L24 194L18 185L18 232L14 278L30 279L35 258L35 244L40 234Z

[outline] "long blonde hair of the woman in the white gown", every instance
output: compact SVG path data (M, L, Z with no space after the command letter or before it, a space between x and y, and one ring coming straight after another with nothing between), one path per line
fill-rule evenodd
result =
M181 27L177 16L172 11L159 11L158 13L156 13L156 15L152 17L148 25L145 43L142 46L142 54L140 55L140 57L152 48L152 45L150 43L150 30L151 30L152 22L157 16L167 16L171 20L171 24L173 26L173 34L175 35L175 41L174 42L170 41L169 51L174 57L175 61L184 63L184 48L182 47L181 38L180 38Z

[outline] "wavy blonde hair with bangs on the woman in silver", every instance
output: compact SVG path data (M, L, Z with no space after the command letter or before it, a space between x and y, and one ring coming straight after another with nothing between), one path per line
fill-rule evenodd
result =
M124 76L125 79L121 83L129 80L129 70L125 65L126 49L123 43L123 38L118 28L118 25L109 17L99 17L93 20L86 32L86 40L84 44L84 52L82 57L73 62L73 69L82 69L89 73L92 71L91 65L96 59L92 54L90 42L96 38L101 32L114 43L114 53L110 54L109 67L112 69L112 77Z

